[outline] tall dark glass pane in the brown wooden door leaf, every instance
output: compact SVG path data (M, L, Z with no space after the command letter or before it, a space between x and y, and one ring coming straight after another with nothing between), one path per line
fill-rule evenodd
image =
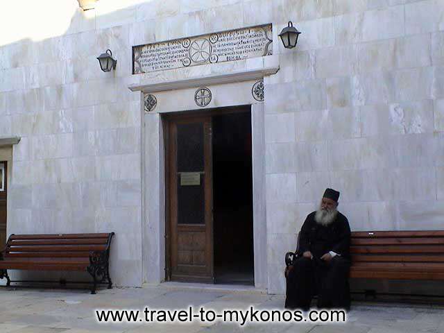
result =
M178 124L177 140L178 223L205 224L203 123Z

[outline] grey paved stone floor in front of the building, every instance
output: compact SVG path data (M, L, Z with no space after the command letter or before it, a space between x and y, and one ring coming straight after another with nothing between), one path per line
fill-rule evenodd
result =
M236 324L101 324L94 309L186 308L188 305L212 309L282 308L283 296L257 291L189 289L183 287L102 289L96 295L75 289L31 289L0 287L1 333L86 333L86 332L310 332L310 333L410 333L444 332L444 308L410 305L353 305L345 324L314 325Z

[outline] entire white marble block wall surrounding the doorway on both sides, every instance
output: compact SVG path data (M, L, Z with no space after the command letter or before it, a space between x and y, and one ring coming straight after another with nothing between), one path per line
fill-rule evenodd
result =
M341 191L353 230L444 228L443 1L122 2L0 46L0 135L22 137L9 232L113 230L114 281L142 284L142 105L128 85L255 60L132 76L131 46L266 23L266 61L280 65L265 79L268 291L283 293L283 255L325 187ZM289 20L302 31L293 50L278 40ZM118 60L108 74L95 59L105 49Z

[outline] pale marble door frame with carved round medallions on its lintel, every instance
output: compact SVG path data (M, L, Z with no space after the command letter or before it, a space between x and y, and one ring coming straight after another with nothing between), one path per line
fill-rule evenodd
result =
M142 82L129 87L134 92L140 92L141 101L144 282L159 283L165 277L165 149L162 114L251 105L255 288L268 287L263 80L278 70L278 66L262 67L182 80Z

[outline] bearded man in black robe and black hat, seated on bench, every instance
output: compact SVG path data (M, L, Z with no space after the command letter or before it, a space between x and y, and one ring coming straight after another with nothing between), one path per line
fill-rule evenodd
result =
M285 307L310 307L318 295L318 308L350 309L350 225L338 212L339 192L326 189L321 205L305 219L293 266L286 269Z

